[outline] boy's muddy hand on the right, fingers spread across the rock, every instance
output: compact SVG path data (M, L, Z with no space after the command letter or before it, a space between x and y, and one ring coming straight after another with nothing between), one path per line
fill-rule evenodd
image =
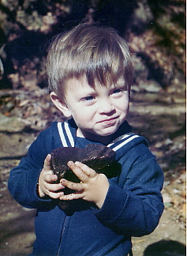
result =
M61 179L63 186L76 190L74 194L62 195L61 200L73 200L82 198L86 201L92 201L100 209L106 198L109 188L109 182L106 175L97 173L86 164L80 162L68 162L69 168L80 179L80 183L73 183L66 179Z

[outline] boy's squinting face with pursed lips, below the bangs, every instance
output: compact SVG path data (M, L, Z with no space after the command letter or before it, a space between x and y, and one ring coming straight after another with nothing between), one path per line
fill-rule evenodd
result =
M72 78L65 84L64 102L61 111L73 117L78 126L77 136L110 141L107 138L118 130L128 114L129 92L124 79L110 87L95 85L92 88L86 79Z

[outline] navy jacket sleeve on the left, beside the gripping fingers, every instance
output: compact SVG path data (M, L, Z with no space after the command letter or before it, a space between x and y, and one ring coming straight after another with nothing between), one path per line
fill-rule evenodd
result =
M44 160L52 149L51 129L44 130L28 149L28 156L24 157L20 164L10 171L9 192L24 207L38 208L43 202L51 201L51 199L39 198L36 186Z

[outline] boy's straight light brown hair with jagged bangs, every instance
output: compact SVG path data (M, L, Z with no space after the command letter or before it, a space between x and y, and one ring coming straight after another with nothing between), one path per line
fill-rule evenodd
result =
M86 77L92 87L95 82L107 86L124 77L130 90L133 66L129 47L113 28L79 24L52 40L47 55L47 76L50 92L62 97L65 81L73 77Z

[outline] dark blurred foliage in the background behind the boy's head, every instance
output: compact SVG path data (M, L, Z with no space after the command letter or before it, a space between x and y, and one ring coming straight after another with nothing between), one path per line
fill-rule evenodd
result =
M80 22L109 25L125 37L135 84L184 85L185 0L2 0L1 88L46 86L47 43Z

